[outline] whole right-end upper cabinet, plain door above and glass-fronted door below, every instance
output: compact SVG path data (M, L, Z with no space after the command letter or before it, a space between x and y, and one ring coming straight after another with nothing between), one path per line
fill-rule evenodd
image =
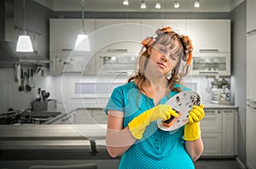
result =
M192 75L230 76L230 20L187 20Z

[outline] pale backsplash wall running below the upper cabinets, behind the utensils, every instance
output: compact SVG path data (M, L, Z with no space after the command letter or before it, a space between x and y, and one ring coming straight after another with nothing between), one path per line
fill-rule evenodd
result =
M109 82L112 77L105 76L101 78L101 82ZM128 76L119 76L116 78L117 82L126 82ZM77 104L82 101L79 99L70 99L70 92L73 88L70 88L70 82L99 82L96 76L83 76L80 74L65 74L62 76L50 76L49 69L44 68L44 76L41 73L35 74L33 80L35 87L31 92L19 91L18 83L15 82L15 70L14 69L0 69L0 79L4 79L0 82L0 113L8 110L10 107L15 110L25 110L31 108L31 102L38 98L38 87L42 90L46 90L50 93L49 99L56 99L57 104L62 106L65 104ZM190 76L185 79L188 87L196 90L201 94L203 103L211 103L211 82L212 77L205 76ZM229 78L227 78L228 81Z

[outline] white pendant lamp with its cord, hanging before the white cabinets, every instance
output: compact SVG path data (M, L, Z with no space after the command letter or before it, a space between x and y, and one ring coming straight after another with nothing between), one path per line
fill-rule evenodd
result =
M85 34L85 29L84 29L84 0L82 0L82 25L83 25L83 34L78 35L74 50L90 51L89 38Z

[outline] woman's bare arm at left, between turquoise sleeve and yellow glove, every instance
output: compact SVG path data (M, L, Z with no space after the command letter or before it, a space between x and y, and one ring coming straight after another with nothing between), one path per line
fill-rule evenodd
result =
M117 110L108 110L107 149L113 158L123 155L136 138L131 135L128 127L123 128L124 113Z

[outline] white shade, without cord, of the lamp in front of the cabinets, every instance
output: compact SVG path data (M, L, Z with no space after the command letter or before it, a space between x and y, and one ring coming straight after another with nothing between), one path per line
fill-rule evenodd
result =
M74 50L90 51L90 42L87 35L84 35L84 34L78 35Z

